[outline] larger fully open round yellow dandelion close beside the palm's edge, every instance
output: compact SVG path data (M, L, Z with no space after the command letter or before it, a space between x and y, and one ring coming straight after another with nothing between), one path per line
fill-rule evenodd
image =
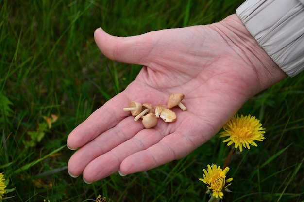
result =
M263 141L265 139L265 128L262 127L260 121L255 116L243 116L235 115L227 124L223 127L224 131L220 132L220 138L229 136L223 142L228 142L227 146L234 144L235 148L239 147L239 151L242 152L243 147L250 149L252 146L257 146L254 141Z

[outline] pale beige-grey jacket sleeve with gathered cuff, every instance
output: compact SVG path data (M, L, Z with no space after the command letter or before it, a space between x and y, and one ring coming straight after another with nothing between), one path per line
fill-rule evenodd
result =
M304 70L304 0L247 0L236 15L288 76Z

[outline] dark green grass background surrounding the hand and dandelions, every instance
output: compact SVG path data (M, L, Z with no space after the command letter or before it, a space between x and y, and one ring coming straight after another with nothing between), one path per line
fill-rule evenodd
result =
M122 91L140 66L103 57L93 32L129 36L208 24L233 14L240 0L0 0L0 172L12 202L202 202L198 179L222 165L229 148L218 135L184 159L91 185L69 177L68 133ZM266 140L232 158L232 193L224 201L304 200L304 74L270 87L239 111L259 118ZM43 117L59 116L47 128ZM32 134L31 136L29 134ZM41 140L40 140L41 139ZM26 144L31 143L31 145Z

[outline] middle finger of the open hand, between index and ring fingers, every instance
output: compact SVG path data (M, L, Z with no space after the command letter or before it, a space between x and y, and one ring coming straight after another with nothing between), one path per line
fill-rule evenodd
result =
M90 161L129 140L142 129L142 123L135 122L134 117L123 119L115 127L88 142L71 156L68 161L69 174L75 177L80 175Z

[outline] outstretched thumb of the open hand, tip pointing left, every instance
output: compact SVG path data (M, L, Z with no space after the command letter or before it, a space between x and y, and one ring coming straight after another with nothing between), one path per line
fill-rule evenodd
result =
M150 32L138 36L116 37L98 28L94 32L94 39L101 52L111 60L147 65L147 58L154 45L151 35Z

